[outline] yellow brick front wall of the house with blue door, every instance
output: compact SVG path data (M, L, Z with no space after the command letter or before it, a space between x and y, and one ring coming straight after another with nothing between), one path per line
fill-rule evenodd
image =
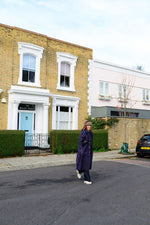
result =
M78 109L78 129L81 129L88 116L88 60L92 59L92 50L70 44L45 35L0 24L0 129L7 129L8 91L11 85L17 85L20 70L18 42L30 43L44 48L40 63L40 82L42 89L48 89L56 95L80 98ZM56 52L65 52L77 57L75 67L75 92L57 90L58 63ZM6 103L2 103L6 99ZM52 129L52 99L49 97L48 129Z

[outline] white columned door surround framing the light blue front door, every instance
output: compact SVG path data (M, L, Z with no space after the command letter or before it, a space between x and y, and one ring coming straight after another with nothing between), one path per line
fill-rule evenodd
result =
M35 133L48 133L48 108L49 108L49 90L11 86L8 91L8 129L17 129L18 105L35 104L36 123Z

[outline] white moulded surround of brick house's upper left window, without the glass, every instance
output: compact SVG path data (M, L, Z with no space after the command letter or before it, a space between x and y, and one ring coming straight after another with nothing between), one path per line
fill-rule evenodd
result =
M40 60L42 58L44 48L24 42L18 42L18 54L20 55L20 74L18 84L26 86L41 87L40 84ZM23 55L29 54L36 58L36 69L35 69L35 82L25 82L22 81L22 71L23 71Z

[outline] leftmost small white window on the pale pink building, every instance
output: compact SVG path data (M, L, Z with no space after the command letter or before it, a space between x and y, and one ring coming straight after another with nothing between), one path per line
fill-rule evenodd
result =
M111 96L109 94L109 83L104 81L99 81L99 99L110 100Z

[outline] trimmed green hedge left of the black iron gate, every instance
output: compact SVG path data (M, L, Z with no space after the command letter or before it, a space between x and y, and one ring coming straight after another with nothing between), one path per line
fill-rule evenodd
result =
M23 155L24 142L24 131L0 130L0 157Z

